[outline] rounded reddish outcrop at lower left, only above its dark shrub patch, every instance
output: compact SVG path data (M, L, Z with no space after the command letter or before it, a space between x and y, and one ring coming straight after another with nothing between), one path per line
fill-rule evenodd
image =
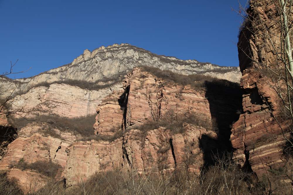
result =
M8 145L6 155L1 159L0 169L7 169L15 161L24 158L28 163L51 160L62 167L66 165L66 148L76 136L63 132L50 124L29 124L18 132L17 138Z

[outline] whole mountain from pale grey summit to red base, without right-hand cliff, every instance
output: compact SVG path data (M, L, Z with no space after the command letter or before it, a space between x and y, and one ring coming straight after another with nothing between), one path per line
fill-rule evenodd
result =
M183 84L138 68L140 65L235 82L241 76L235 67L183 61L129 44L114 44L92 52L85 50L71 64L31 78L1 79L0 84L16 87L12 108L32 111L22 115L29 122L0 146L0 170L7 172L8 178L16 178L21 189L28 192L35 181L40 181L36 189L44 186L48 175L30 166L20 167L23 162L59 165L54 177L68 187L95 172L113 169L142 173L184 168L199 174L212 152L230 149L229 132L240 109L236 83L236 91L226 91L225 85L212 81L205 87ZM179 130L161 123L147 125L170 118L179 120L190 113L198 120L205 119L206 124L185 121L176 127ZM51 120L59 117L65 123L88 115L96 115L96 119L87 137ZM40 117L42 121L38 121ZM6 116L0 120L0 126L9 123Z

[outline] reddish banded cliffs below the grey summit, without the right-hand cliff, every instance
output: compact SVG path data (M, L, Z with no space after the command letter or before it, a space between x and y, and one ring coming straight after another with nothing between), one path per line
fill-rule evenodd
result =
M49 121L30 123L8 145L0 170L7 171L9 178L19 178L23 190L31 186L31 181L45 181L46 176L33 168L22 170L11 165L13 162L31 164L44 160L59 164L62 173L56 179L64 179L67 186L78 184L95 172L113 169L170 172L184 168L198 174L209 163L213 151L229 148L230 134L227 137L214 127L228 128L229 132L234 119L228 116L237 117L239 109L237 101L228 104L241 97L238 88L228 92L224 89L227 86L220 85L222 88L213 82L206 83L205 88L182 85L134 68L121 83L99 90L67 84L35 87L20 99L42 108L40 115L73 118L94 112L96 104L92 139L80 139L78 133L61 130ZM189 113L197 116L196 124L188 120L174 127L161 123L181 120Z

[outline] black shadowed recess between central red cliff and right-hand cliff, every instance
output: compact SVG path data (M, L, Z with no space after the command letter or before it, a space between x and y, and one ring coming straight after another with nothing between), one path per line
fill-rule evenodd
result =
M213 126L218 128L218 140L202 136L201 145L204 151L205 164L213 163L213 156L219 155L230 158L233 151L230 141L231 128L239 115L243 113L242 94L243 90L238 83L227 80L214 80L205 82L205 97L209 101L209 109L212 116ZM212 149L209 145L216 144L217 148ZM205 148L205 146L209 146Z

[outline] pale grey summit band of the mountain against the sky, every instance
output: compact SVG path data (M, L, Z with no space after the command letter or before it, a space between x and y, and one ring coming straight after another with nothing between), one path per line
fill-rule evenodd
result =
M27 91L43 82L53 83L66 80L96 82L141 65L171 70L184 75L204 74L233 82L239 82L241 77L239 68L236 67L221 67L196 60L179 60L175 57L159 56L130 44L114 44L108 47L101 46L92 52L86 49L84 54L74 59L72 63L34 77L16 80L1 79L1 82L10 83L16 87L16 91Z

